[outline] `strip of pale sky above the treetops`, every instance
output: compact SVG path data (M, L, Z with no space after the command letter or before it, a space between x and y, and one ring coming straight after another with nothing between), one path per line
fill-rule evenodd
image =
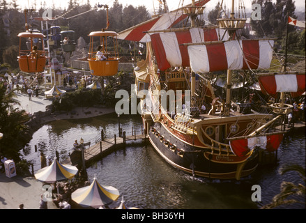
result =
M11 2L10 0L7 0L8 2ZM40 2L44 1L47 3L47 6L52 7L52 5L54 4L54 6L59 7L59 8L67 8L69 0L17 0L17 3L22 6L23 8L29 8L29 6L33 6L33 4L36 2L36 5L38 6L38 8L40 7ZM187 5L189 3L191 3L191 0L168 0L167 4L169 7L169 10L175 10L176 8L178 8L178 6L181 7L182 1L184 2L184 5ZM197 1L197 0L196 0ZM206 4L206 8L208 10L211 10L213 8L215 8L215 5L217 4L219 0L211 0L210 2L208 2ZM274 2L275 0L273 0ZM78 0L77 2L81 3L81 4L85 4L87 2L87 0ZM153 13L153 5L155 6L155 8L158 8L159 6L159 2L158 0L118 0L119 3L121 3L124 6L146 6L146 8L148 9L149 13ZM238 1L236 1L238 2ZM296 2L296 8L300 8L305 10L305 0L295 0ZM112 7L114 0L90 0L90 3L92 6L94 6L97 3L100 4L107 4L109 7ZM231 0L224 0L224 3L226 4L226 6L228 8L231 8ZM252 0L244 0L245 3L245 7L248 10L251 10L252 8Z

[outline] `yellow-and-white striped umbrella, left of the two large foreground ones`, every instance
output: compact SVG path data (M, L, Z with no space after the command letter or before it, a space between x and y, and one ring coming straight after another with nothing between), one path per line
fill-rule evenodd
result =
M77 174L77 167L72 165L64 165L54 159L49 167L44 167L34 174L36 180L45 183L55 183L57 181L71 179Z

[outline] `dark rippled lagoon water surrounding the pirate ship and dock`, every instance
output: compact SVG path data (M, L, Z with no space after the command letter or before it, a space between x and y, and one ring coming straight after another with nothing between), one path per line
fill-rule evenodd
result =
M139 116L121 116L121 128L130 135L132 126L141 131ZM100 131L105 130L106 137L118 133L118 117L109 114L83 120L55 121L44 125L33 134L29 146L24 148L24 156L32 160L34 169L40 169L40 154L35 153L35 145L45 155L54 157L59 151L61 160L72 151L75 139L81 137L85 142L95 144L100 140ZM301 183L295 172L281 176L278 169L287 162L305 167L305 134L291 134L284 138L278 151L280 161L277 165L259 168L254 174L236 180L209 180L193 178L171 167L153 150L150 145L128 144L92 164L87 169L89 180L95 176L101 185L116 187L124 196L129 207L150 209L202 209L202 208L259 208L270 203L280 192L282 181ZM261 202L252 201L252 185L260 185ZM112 206L118 206L114 201ZM303 204L293 204L281 208L305 208Z

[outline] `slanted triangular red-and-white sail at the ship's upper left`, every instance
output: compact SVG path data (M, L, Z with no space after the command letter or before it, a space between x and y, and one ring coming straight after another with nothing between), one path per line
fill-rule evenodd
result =
M195 6L204 6L208 1L210 0L197 1ZM191 6L191 4L188 6ZM151 42L150 36L144 32L170 29L174 25L178 24L178 22L184 20L186 17L188 17L188 15L183 14L183 10L178 8L177 10L171 11L170 13L159 15L158 17L154 17L151 20L121 31L118 33L118 39L137 41L141 43Z

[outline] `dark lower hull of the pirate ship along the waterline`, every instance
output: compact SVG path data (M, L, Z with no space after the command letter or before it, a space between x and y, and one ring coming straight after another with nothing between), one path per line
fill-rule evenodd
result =
M156 134L158 132L158 134ZM162 136L162 138L160 137ZM152 123L148 138L155 151L169 164L194 176L218 179L234 179L243 164L241 177L250 175L258 166L258 156L253 155L245 162L231 162L226 156L210 155L205 149L199 150L176 138L161 123ZM165 142L168 142L165 144ZM169 146L175 145L175 148ZM180 153L182 148L184 153Z

